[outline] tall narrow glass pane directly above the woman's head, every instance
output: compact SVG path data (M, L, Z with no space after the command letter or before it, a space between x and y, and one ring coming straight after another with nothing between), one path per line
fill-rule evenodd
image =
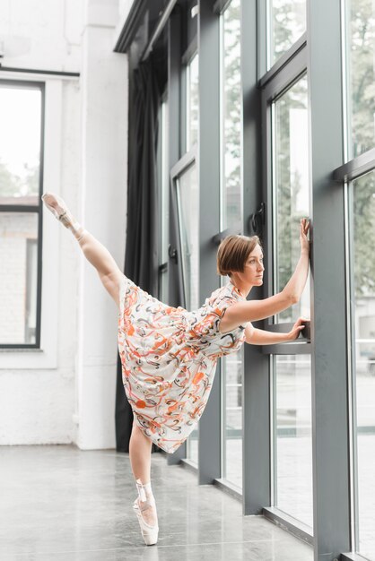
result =
M222 13L222 224L242 220L240 0Z

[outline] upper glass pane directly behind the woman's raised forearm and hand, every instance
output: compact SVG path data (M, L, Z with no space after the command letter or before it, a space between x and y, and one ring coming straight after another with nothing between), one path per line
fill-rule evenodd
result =
M301 253L300 220L310 215L308 96L304 76L274 104L275 291L291 278ZM301 301L277 316L292 322L310 317L309 282Z

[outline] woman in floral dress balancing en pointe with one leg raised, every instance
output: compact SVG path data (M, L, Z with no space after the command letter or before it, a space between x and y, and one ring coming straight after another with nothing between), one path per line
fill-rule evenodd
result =
M279 314L301 298L309 273L308 220L301 220L301 257L285 288L270 298L247 301L263 283L259 238L226 237L217 255L218 272L230 281L198 310L162 304L118 269L108 250L74 220L65 203L44 194L49 211L72 231L83 254L99 273L119 308L118 349L126 396L134 412L129 444L138 498L134 508L144 542L158 539L158 520L151 488L151 448L173 453L200 419L214 380L217 358L246 341L265 345L292 341L303 329L300 318L288 333L265 332L251 324Z

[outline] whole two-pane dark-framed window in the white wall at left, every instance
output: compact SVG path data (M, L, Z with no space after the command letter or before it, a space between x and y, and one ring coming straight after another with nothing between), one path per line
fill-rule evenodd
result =
M39 345L42 90L0 82L1 346Z

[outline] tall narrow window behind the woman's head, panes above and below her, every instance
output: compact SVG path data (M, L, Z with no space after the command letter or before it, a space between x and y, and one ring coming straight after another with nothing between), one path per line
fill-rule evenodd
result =
M221 229L242 220L240 0L221 14ZM222 279L222 283L228 279ZM243 350L222 358L222 478L242 486Z

